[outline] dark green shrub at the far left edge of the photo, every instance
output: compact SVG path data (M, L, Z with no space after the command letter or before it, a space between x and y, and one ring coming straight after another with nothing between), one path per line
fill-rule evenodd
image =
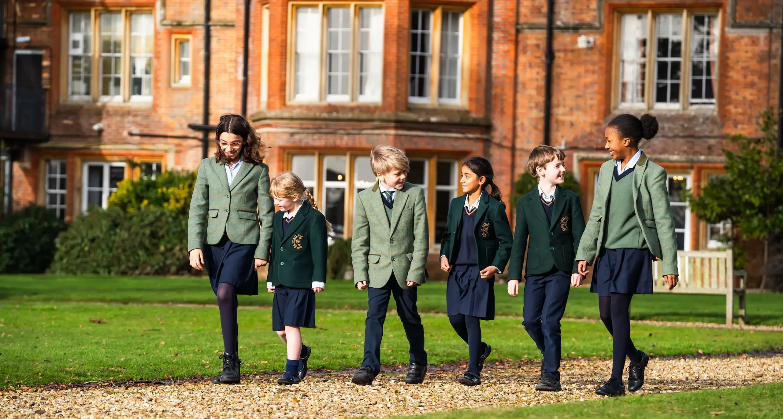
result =
M51 209L27 206L0 218L0 274L37 274L49 268L65 223Z

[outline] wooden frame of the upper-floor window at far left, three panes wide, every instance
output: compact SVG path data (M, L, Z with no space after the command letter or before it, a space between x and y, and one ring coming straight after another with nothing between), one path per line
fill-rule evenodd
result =
M150 90L149 96L134 96L131 100L131 14L132 13L150 13L153 16L153 43L155 36L157 35L155 30L155 10L150 7L92 7L92 8L68 8L64 11L62 17L62 42L61 50L64 57L70 57L70 13L90 13L91 24L91 41L90 51L92 54L92 60L90 62L90 95L89 96L70 96L70 64L68 64L67 71L61 71L61 97L65 98L67 102L100 102L100 103L142 103L149 104L152 101L154 85L155 85L155 72L152 71L153 87ZM120 77L120 98L117 99L114 96L101 95L101 72L100 72L100 14L101 13L120 13L122 19L122 42L121 42L121 77ZM68 60L66 59L66 63ZM155 52L153 45L153 67L155 63Z

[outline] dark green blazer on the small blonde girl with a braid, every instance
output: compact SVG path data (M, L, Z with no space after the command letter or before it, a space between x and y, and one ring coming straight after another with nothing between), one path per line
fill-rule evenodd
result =
M272 219L272 256L267 282L272 285L310 288L314 281L327 281L327 219L302 202L283 235L283 211Z

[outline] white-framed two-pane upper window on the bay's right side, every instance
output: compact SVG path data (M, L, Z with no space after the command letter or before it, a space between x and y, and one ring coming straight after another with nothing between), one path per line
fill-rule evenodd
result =
M463 11L411 10L408 102L462 103L463 48Z

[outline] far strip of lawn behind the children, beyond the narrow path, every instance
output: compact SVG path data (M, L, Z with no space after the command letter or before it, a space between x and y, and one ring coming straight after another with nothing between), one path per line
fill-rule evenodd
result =
M512 298L505 288L505 285L496 286L496 313L521 317L522 297ZM329 281L327 291L319 294L317 300L319 310L366 310L366 298L366 292L356 291L350 281ZM0 280L0 304L55 301L215 304L215 295L206 278L9 275ZM747 323L783 325L781 301L781 294L749 294ZM240 304L271 306L272 295L240 296ZM720 295L636 295L631 318L722 324L725 307L726 299ZM446 284L431 282L419 288L419 310L445 313ZM572 288L565 317L597 318L597 315L596 295L587 287Z

